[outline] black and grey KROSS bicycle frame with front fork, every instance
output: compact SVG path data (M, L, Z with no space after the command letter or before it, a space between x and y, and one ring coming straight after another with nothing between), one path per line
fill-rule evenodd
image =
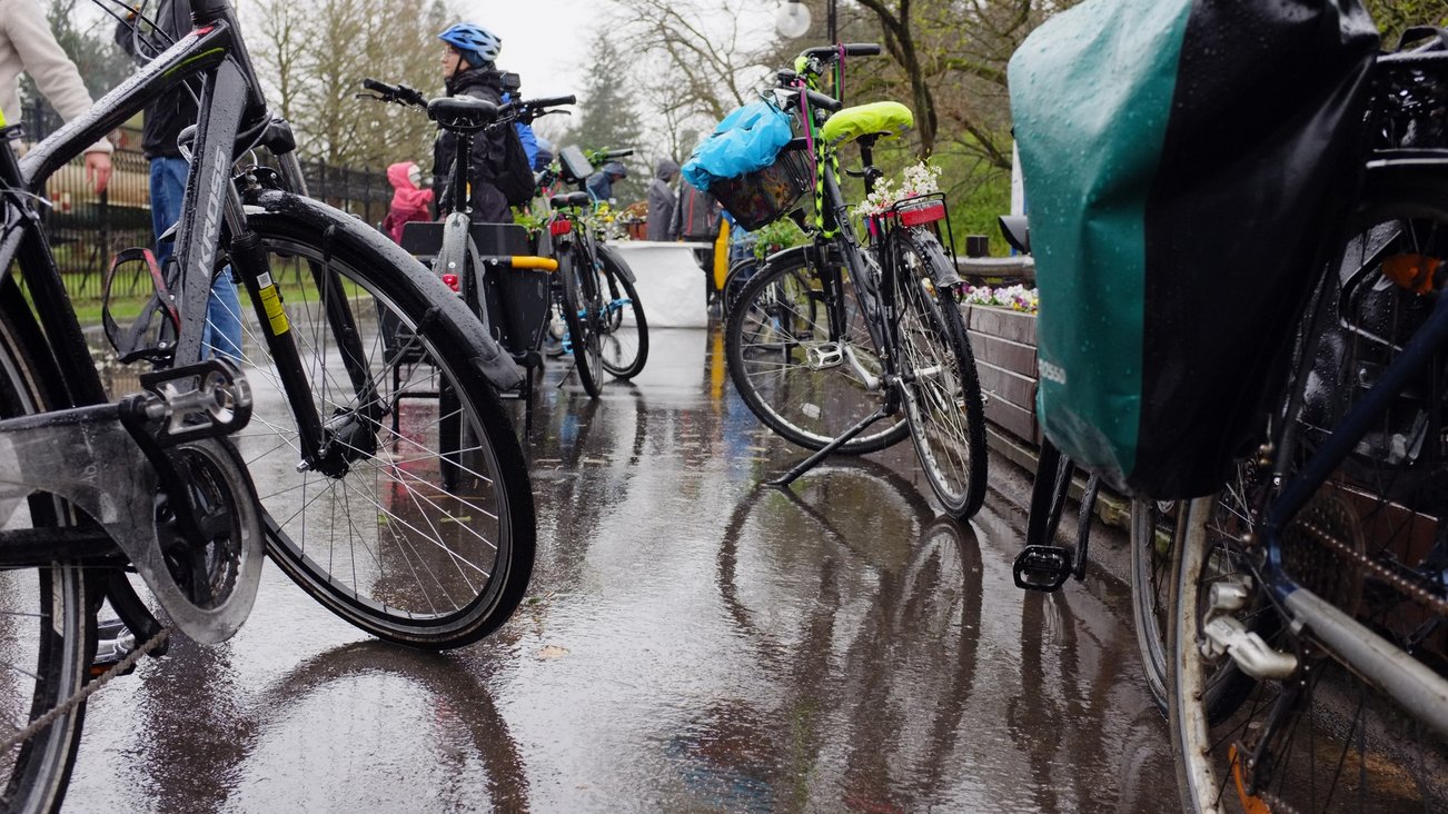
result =
M334 455L327 450L326 433L313 406L297 346L288 336L291 326L281 307L266 252L259 238L249 232L240 194L232 182L232 165L236 156L253 146L265 145L281 161L284 178L304 194L291 135L285 125L272 127L230 3L198 0L193 6L193 22L195 28L190 33L107 93L84 114L36 145L3 177L3 182L7 190L38 194L45 181L85 146L119 127L152 100L193 77L200 77L200 119L177 232L181 324L172 364L185 366L203 356L201 336L206 327L211 274L219 265L217 246L222 245L223 235L229 235L229 259L240 272L252 306L266 317L258 322L278 362L287 400L298 420L301 465L324 469L336 465L334 461L329 461ZM26 284L35 295L38 317L46 336L51 337L64 378L80 388L74 394L74 403L103 401L104 393L61 285L59 272L41 236L39 223L33 217L12 217L13 209L14 203L10 201L6 235L0 239L0 268L10 267L22 242L29 246L23 253L25 268L29 269ZM35 238L22 240L22 235ZM319 290L334 290L340 284L326 268L313 265L311 271L317 277ZM342 349L352 385L359 393L375 391L361 362L365 358L361 339L350 330L353 320L348 304L340 298L329 298L327 319L336 336L349 337L353 343ZM375 401L375 398L362 400L363 404L374 404L372 413L378 411ZM366 419L375 421L379 416L368 414Z

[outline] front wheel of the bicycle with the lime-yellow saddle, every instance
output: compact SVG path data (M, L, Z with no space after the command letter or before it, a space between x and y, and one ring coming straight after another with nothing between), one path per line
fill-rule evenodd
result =
M744 285L724 329L730 379L744 404L766 427L805 449L824 448L883 401L849 364L809 364L809 351L830 340L827 309L834 307L824 303L820 269L809 256L814 251L809 246L772 256ZM882 366L853 293L844 291L841 301L849 342L862 356L860 364L877 375ZM905 416L898 413L837 452L876 452L906 435Z

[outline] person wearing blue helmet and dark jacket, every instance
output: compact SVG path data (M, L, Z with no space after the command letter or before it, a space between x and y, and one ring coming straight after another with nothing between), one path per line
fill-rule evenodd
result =
M471 96L492 104L502 104L502 74L494 65L502 41L472 23L458 23L437 35L443 41L443 81L447 96ZM472 194L475 223L513 223L508 198L498 190L494 180L502 172L505 130L482 130L472 136L472 155L468 161L468 184ZM433 146L433 190L437 191L439 207L449 203L447 175L458 149L453 133L442 132Z

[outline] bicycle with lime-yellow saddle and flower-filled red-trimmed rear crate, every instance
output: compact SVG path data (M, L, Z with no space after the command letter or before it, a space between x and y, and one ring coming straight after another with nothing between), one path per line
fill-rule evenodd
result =
M873 54L877 45L804 51L798 72L778 74L773 94L805 135L770 168L710 188L753 230L795 211L815 177L811 242L770 256L730 313L730 378L766 426L815 450L773 485L788 487L834 452L873 452L908 433L946 511L969 519L985 501L985 407L960 317L960 277L938 235L944 197L902 200L872 216L862 246L831 145L859 143L869 194L882 177L873 145L886 133L866 122L883 116L883 129L893 130L909 123L909 112L893 103L841 110L811 88L843 56Z

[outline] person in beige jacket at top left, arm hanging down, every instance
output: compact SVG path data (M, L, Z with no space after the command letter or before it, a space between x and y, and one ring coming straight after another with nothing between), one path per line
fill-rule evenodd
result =
M41 0L0 0L0 116L20 117L20 71L30 74L51 107L70 122L91 106L75 64L55 42ZM100 194L110 182L110 142L85 151L85 182Z

